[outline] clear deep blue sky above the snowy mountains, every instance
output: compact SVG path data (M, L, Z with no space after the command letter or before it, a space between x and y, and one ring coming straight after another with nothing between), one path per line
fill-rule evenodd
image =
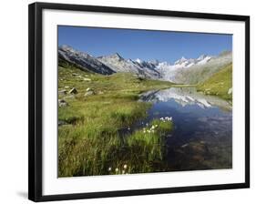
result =
M173 63L181 56L216 56L232 50L231 35L58 26L58 46L68 45L92 56L118 53L124 58Z

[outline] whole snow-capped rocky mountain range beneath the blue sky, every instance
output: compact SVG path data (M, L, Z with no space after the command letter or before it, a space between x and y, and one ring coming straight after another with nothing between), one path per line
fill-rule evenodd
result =
M128 72L151 79L182 84L198 84L218 72L221 67L230 64L232 55L231 52L226 51L219 56L201 55L198 58L189 59L182 56L171 65L159 60L125 59L118 53L96 57L78 51L71 46L59 46L58 59L75 64L82 70L102 75Z

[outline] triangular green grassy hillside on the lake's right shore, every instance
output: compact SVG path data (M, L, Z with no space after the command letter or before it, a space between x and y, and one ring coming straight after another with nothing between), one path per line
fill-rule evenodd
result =
M210 76L197 86L197 90L206 95L215 95L227 100L232 99L229 89L232 87L232 65L223 67L219 72Z

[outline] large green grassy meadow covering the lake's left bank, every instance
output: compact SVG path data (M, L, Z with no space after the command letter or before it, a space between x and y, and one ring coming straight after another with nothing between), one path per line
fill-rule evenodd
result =
M58 119L67 123L58 127L58 176L162 169L159 161L164 154L163 136L173 128L172 122L154 120L150 125L158 125L158 128L147 134L142 128L123 136L120 129L147 117L151 105L138 102L140 93L172 86L170 82L138 78L128 73L97 75L61 62L58 89L68 92L76 87L77 94L59 95L68 106L58 107ZM94 94L85 97L87 88Z

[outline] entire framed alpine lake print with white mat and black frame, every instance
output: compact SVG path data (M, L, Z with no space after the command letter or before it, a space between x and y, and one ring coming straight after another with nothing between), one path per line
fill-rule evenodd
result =
M29 5L29 199L250 186L250 17Z

